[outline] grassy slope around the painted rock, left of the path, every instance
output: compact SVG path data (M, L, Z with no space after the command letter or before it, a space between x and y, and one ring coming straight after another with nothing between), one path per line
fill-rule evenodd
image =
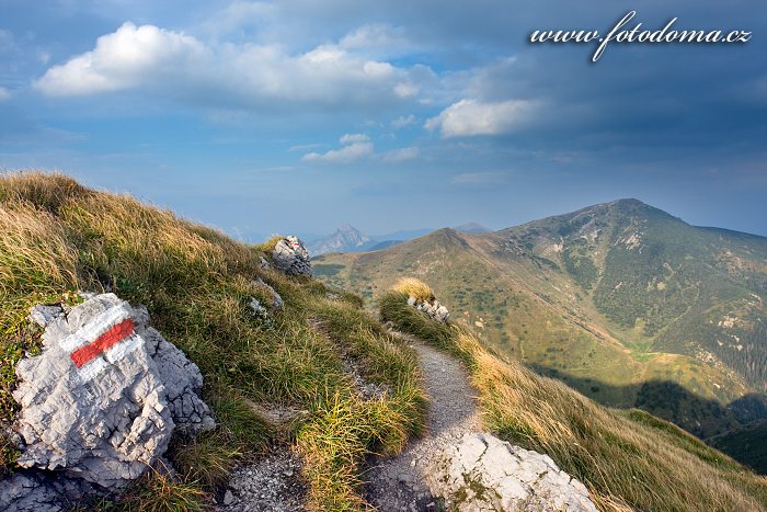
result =
M357 297L329 297L321 283L261 269L270 249L62 175L0 175L0 417L13 419L14 365L38 346L39 333L25 319L30 306L111 289L146 305L152 325L199 366L219 424L194 443L173 444L170 458L182 476L176 490L150 477L128 505L138 499L170 507L162 503L169 497L184 509L204 507L238 460L278 442L304 455L311 507L362 507L364 456L397 452L420 429L415 356ZM257 277L285 300L270 322L248 308L251 297L270 304L253 284ZM344 360L388 392L363 398ZM260 412L275 406L308 414L275 425ZM12 470L13 455L2 450L2 471Z

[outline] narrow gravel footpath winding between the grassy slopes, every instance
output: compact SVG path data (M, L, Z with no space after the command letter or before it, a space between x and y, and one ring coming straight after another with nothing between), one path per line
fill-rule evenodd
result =
M442 452L442 447L467 432L480 431L476 390L469 384L469 374L455 357L399 334L419 354L424 387L430 407L426 432L413 440L396 457L373 462L365 474L365 498L381 512L436 511L424 479L424 470Z

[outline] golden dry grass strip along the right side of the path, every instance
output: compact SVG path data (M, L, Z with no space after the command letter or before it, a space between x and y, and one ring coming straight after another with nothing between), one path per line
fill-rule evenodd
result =
M443 326L391 291L381 319L465 360L485 426L546 453L583 481L603 510L765 510L767 479L677 426L640 410L598 406L482 346L465 327Z

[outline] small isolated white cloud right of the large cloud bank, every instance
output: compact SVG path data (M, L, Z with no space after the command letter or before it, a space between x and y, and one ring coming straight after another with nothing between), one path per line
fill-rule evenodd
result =
M506 134L530 121L537 106L536 102L525 100L497 103L461 100L428 120L425 127L439 128L443 138Z

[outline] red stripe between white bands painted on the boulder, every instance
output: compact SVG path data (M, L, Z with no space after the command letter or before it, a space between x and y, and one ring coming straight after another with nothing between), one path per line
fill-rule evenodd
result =
M115 307L98 315L60 345L78 367L80 378L88 382L142 343L130 312Z

